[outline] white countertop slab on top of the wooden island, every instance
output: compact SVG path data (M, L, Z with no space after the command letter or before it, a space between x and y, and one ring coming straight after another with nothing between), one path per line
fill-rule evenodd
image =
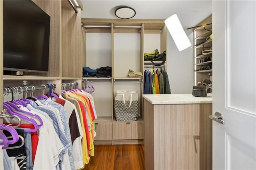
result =
M206 97L195 97L192 94L143 94L151 104L204 104L212 103L212 93Z

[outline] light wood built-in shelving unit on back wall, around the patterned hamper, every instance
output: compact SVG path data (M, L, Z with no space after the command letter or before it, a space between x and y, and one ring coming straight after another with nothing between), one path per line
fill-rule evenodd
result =
M166 51L167 29L164 20L92 20L82 18L82 24L84 30L82 33L84 39L82 66L88 66L91 69L103 66L112 67L111 78L104 80L95 77L82 78L83 83L92 84L97 89L94 94L98 115L96 128L102 136L96 137L94 142L96 144L143 143L143 77L130 78L128 71L131 69L144 74L144 47L148 45L149 41L154 43L157 41L158 50ZM145 42L145 36L147 42ZM157 39L151 36L157 37ZM153 51L154 48L156 47L151 47L150 50ZM114 117L116 90L138 92L141 109L137 121L116 121ZM102 98L104 98L104 102Z

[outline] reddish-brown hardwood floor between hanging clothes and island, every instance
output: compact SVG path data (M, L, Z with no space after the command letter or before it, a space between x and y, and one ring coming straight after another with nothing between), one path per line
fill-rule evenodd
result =
M144 170L144 145L95 145L83 170Z

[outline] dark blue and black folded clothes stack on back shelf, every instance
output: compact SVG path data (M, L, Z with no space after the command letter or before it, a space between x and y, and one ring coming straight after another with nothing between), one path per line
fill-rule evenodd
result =
M83 67L83 77L111 77L112 68L110 66L91 69L90 67Z

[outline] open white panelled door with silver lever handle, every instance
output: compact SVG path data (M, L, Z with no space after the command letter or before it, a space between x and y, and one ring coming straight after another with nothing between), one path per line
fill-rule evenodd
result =
M256 170L256 1L212 0L214 170Z

